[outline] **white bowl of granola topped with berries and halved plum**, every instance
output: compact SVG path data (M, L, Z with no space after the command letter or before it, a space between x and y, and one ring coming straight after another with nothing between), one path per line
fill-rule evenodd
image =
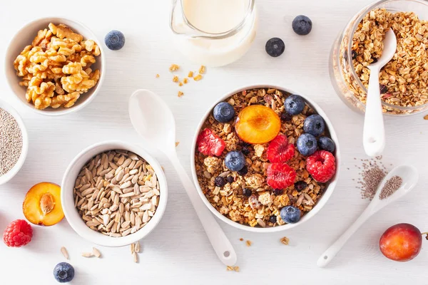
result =
M290 229L332 195L337 136L307 96L277 86L240 88L215 103L197 130L193 180L211 212L233 227Z

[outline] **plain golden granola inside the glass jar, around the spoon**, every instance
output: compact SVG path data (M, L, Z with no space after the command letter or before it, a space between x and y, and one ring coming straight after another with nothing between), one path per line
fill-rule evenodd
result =
M367 66L382 55L385 34L392 28L397 36L397 52L380 71L379 83L382 100L400 107L417 107L428 103L428 21L420 20L413 12L392 13L386 9L374 9L357 26L352 37L352 66L362 86L367 89L370 70ZM342 43L341 61L347 57ZM355 97L366 102L366 90L350 75L345 66L345 82ZM384 113L400 112L383 106Z

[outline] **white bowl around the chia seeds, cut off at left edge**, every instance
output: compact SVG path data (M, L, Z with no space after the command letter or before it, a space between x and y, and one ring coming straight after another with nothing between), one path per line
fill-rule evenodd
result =
M9 103L6 103L6 101L4 100L0 100L0 108L3 110L6 110L9 114L11 114L15 118L16 123L18 123L22 134L21 155L19 155L19 159L14 165L14 167L12 167L11 170L9 170L9 172L7 172L5 175L0 176L0 185L2 185L8 182L9 180L11 180L16 175L16 173L19 172L22 165L24 165L27 152L29 151L29 135L26 132L24 121L21 119L21 116L19 115L18 112L16 112L16 110L11 105L9 105Z

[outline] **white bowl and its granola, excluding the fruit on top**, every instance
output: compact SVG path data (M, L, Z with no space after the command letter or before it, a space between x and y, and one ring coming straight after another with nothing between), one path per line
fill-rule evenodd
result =
M227 93L213 104L198 125L190 157L196 189L208 209L233 227L249 232L279 232L291 229L315 216L335 189L337 174L340 171L340 150L332 123L324 111L305 95L299 94L305 101L305 107L302 107L300 113L297 115L285 113L284 100L291 94L296 93L272 85L240 88ZM233 117L229 117L226 123L220 123L213 116L214 107L220 102L227 102L234 109ZM273 140L281 137L285 145L292 145L286 163L282 163L283 161L271 163L274 159L267 155L267 149L272 139L255 144L243 142L243 133L238 135L239 128L242 127L237 125L243 124L242 121L245 120L243 112L253 106L268 109L270 113L275 112L276 115L273 117L280 118L279 135L276 133L277 136ZM335 162L335 171L330 173L330 180L325 183L317 182L308 173L307 157L294 147L297 138L303 133L305 118L315 114L320 115L325 122L325 130L321 135L330 138L335 145L335 149L330 153L330 157L334 157L332 161ZM201 142L207 132L210 134L209 143L223 141L223 147L218 152L213 152L214 154L206 155L204 149L200 148L204 147ZM265 130L261 131L263 132ZM231 171L230 166L226 167L225 157L230 152L240 152L244 155L245 166L242 170ZM313 153L316 154L317 152ZM280 189L270 186L273 185L272 180L268 181L267 178L270 179L272 176L268 177L267 172L269 169L272 170L273 165L284 164L287 165L287 170L292 169L290 171L295 173L295 177L291 176L287 185L280 186ZM301 187L302 185L305 186ZM282 220L280 210L286 206L300 209L302 214L297 223L287 224Z

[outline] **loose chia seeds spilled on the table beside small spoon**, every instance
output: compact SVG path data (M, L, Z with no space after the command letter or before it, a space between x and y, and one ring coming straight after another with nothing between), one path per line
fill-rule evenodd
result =
M387 175L387 169L382 163L382 156L374 157L371 160L362 160L362 169L357 183L357 188L361 190L362 199L373 199L377 187Z

